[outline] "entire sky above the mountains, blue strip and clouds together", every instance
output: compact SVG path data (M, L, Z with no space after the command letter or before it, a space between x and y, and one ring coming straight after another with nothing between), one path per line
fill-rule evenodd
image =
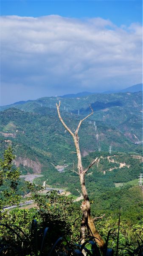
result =
M142 83L142 1L1 0L0 105Z

